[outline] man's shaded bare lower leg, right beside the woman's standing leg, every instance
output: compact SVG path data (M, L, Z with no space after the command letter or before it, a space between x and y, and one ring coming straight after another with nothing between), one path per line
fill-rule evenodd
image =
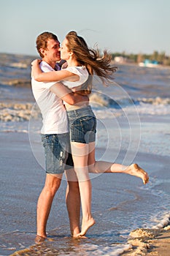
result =
M65 171L68 182L66 207L69 214L70 231L73 237L80 233L80 189L74 169Z

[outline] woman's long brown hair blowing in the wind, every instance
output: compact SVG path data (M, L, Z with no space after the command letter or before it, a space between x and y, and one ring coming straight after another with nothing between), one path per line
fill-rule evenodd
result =
M90 94L92 90L93 75L97 75L104 84L113 78L112 75L116 72L117 67L112 67L110 64L112 56L107 50L104 50L104 54L101 56L98 48L88 48L85 39L78 36L75 31L66 34L66 39L68 40L67 48L74 53L77 61L88 69L89 79L82 85L84 94Z

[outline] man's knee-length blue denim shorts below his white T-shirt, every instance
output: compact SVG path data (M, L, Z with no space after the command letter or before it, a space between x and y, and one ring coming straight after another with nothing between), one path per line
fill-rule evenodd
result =
M63 173L64 170L73 167L69 132L42 135L42 145L45 148L46 173Z

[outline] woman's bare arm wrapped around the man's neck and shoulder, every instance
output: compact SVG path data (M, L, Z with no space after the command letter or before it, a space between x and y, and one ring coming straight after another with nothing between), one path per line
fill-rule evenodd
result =
M66 80L66 78L70 78L72 76L77 77L78 75L69 72L68 70L59 70L59 71L51 71L51 72L42 72L42 69L39 67L39 60L36 59L32 61L32 75L34 79L38 82L56 82L60 80Z

